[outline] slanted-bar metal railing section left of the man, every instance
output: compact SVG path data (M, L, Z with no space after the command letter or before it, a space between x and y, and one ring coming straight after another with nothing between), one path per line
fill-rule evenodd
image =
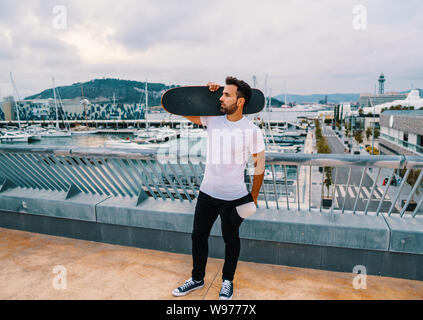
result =
M37 190L192 201L202 164L157 161L151 151L118 148L0 147L0 178Z

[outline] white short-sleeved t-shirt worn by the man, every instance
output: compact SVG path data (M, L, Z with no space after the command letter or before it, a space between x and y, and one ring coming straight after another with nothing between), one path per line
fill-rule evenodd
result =
M200 120L207 126L206 169L200 190L221 200L246 196L244 171L248 158L265 148L260 128L246 117L229 121L223 115Z

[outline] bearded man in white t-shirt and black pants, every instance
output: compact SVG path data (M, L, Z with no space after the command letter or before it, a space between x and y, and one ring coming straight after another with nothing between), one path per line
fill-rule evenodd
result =
M216 83L207 84L210 91L219 89ZM226 78L220 98L223 116L186 117L207 127L208 152L206 169L200 186L192 231L192 277L173 290L182 296L204 286L208 256L208 237L220 215L225 242L225 263L219 298L230 300L233 278L240 252L239 227L255 212L264 176L264 140L260 129L243 116L244 106L251 98L250 86L234 77ZM222 142L223 140L223 142ZM249 156L254 159L254 180L251 193L244 182Z

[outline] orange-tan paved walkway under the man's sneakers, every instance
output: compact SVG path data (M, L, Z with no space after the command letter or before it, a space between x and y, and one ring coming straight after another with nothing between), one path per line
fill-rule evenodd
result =
M171 295L191 263L190 255L0 228L0 299L217 299L223 261L211 258L204 288ZM355 276L240 261L234 300L423 299L423 281L367 276L357 290Z

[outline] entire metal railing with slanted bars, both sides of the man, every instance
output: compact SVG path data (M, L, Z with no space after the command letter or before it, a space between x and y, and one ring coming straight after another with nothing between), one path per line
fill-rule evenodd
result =
M394 177L404 168L400 186L392 186ZM411 170L421 168L421 157L266 152L258 206L401 217L409 212L415 217L423 204L423 196L413 201L420 194L423 170L414 185L409 186L406 180ZM198 196L204 169L200 161L163 157L153 151L0 146L0 193L21 187L112 197L144 194L192 202ZM383 175L389 177L384 185ZM253 170L246 170L249 190L253 179Z

